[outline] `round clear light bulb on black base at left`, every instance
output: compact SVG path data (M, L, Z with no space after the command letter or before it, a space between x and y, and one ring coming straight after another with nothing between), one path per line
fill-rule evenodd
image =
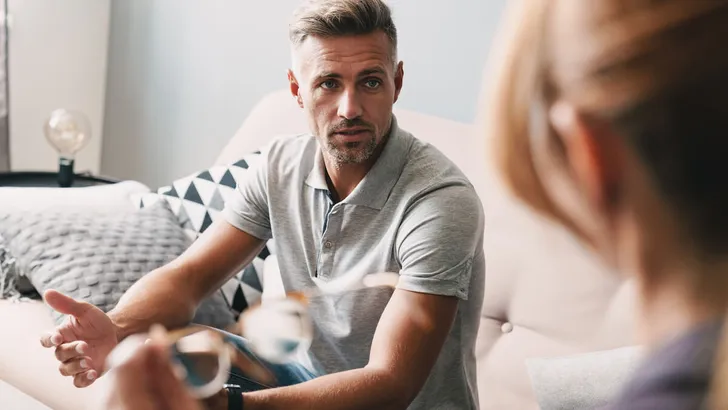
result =
M73 184L76 153L91 139L91 123L79 111L58 109L46 120L43 132L58 151L58 183L62 187L69 187Z

